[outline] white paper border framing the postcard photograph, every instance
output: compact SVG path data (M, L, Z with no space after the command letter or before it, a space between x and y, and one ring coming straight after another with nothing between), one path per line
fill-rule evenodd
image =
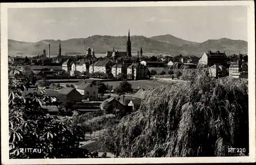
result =
M8 142L8 8L59 7L160 7L160 6L248 6L249 65L249 156L248 157L173 157L173 158L77 158L77 159L9 159ZM199 163L255 162L255 34L253 1L201 2L115 2L115 3L1 3L1 153L3 164L108 164L108 163ZM239 11L238 11L239 12Z

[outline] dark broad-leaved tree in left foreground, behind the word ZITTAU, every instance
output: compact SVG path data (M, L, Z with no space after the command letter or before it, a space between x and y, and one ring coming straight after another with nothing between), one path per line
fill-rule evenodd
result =
M51 103L45 88L22 96L30 80L22 71L9 68L9 156L10 158L85 158L89 151L79 148L83 134L72 125L73 117L58 119L48 115L42 105ZM23 153L20 148L37 152ZM39 152L39 151L40 152Z

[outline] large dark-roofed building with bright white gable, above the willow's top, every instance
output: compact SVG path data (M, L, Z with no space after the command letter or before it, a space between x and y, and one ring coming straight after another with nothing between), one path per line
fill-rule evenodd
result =
M225 52L211 52L210 50L208 52L204 52L203 56L199 60L199 64L201 65L208 65L211 67L212 65L219 64L226 67L227 65L227 55Z

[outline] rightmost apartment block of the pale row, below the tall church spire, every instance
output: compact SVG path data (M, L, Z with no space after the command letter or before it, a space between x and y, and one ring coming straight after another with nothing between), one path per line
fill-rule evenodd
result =
M148 78L147 72L148 69L140 63L133 63L132 65L127 67L127 75L129 79Z

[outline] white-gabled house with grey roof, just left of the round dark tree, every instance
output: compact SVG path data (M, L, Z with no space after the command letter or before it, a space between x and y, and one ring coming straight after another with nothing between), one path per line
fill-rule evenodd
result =
M91 83L83 82L76 88L76 90L83 96L83 99L98 100L99 90Z

